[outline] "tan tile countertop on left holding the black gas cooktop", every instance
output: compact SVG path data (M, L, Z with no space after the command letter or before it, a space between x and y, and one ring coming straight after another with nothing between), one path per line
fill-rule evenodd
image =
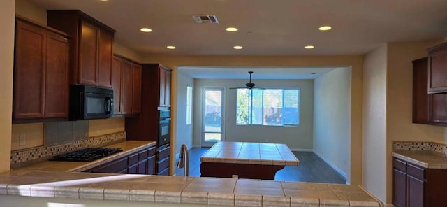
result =
M113 155L109 155L107 157L103 157L101 159L96 159L92 162L63 162L63 161L45 161L38 164L34 164L31 166L22 167L19 169L10 170L10 173L20 172L20 171L34 171L34 170L43 170L43 171L59 171L59 172L82 172L87 169L94 168L95 166L99 166L106 162L110 162L115 159L119 159L121 157L125 157L127 155L131 155L135 152L138 152L142 149L149 148L156 145L154 141L124 141L121 143L115 143L112 145L103 146L104 148L121 148L123 151L118 152Z

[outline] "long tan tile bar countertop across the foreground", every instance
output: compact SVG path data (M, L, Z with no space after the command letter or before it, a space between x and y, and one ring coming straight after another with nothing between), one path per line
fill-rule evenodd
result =
M235 178L28 171L0 174L0 194L216 206L383 206L359 185Z

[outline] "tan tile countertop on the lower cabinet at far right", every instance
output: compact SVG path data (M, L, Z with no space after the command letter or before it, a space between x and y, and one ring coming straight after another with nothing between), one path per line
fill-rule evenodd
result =
M430 150L395 150L393 157L427 169L447 169L447 155Z

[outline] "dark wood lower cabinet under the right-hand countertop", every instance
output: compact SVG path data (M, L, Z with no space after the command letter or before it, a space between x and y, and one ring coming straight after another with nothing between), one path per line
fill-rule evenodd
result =
M393 205L446 206L446 192L447 169L425 169L393 157Z

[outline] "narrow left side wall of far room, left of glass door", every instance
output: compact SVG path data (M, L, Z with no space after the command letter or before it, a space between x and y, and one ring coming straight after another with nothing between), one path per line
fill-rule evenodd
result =
M176 150L175 155L180 153L182 144L188 148L193 147L193 124L186 125L186 87L194 88L194 80L185 76L183 73L177 73L177 113L174 121L177 123L177 134L175 135Z

